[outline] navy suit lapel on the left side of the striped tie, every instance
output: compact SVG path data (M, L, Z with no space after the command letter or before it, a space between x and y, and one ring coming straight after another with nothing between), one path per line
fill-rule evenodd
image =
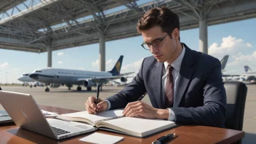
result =
M161 75L163 71L163 63L156 63L155 67L151 70L152 76L153 76L153 92L156 97L157 104L159 105L159 108L162 108L162 96L161 96Z

